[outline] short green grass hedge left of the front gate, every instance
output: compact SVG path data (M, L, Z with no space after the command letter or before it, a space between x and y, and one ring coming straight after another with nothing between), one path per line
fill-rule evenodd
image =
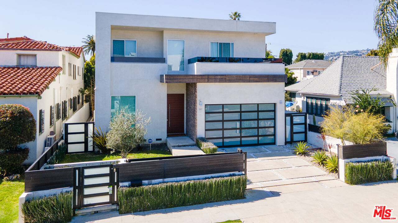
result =
M28 223L65 223L73 217L72 191L35 198L22 204L22 213Z

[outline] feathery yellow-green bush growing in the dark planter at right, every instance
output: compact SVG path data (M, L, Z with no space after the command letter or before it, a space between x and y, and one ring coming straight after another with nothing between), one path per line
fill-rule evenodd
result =
M334 138L355 144L365 144L383 139L390 127L384 125L384 116L364 111L356 113L351 106L331 106L320 123L322 131Z

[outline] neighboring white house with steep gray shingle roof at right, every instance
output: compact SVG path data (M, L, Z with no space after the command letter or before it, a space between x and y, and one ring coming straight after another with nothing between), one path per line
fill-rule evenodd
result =
M390 73L386 73L376 56L341 56L317 77L285 87L295 102L288 110L297 111L301 108L302 112L308 114L308 123L313 123L312 115L315 115L318 125L332 104L353 103L349 92L361 87L375 87L378 90L372 91L371 96L380 94L386 101L384 115L395 132L397 113L390 100L396 102L397 62L394 63L394 57L389 59L387 70Z

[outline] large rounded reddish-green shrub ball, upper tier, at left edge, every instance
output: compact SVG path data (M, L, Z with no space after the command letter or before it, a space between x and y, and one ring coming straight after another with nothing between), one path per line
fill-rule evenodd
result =
M0 105L0 150L17 149L19 144L36 138L36 121L20 104Z

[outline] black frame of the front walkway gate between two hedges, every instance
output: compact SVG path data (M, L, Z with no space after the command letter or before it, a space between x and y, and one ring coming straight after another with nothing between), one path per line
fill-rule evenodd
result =
M84 177L84 169L96 169L101 167L109 167L109 173L104 174L93 174ZM95 177L106 177L109 176L109 183L102 184L92 184L84 186L84 179L95 178ZM94 166L84 166L84 167L74 167L73 168L73 208L85 208L103 204L118 204L119 200L117 199L117 188L119 187L119 168L116 168L113 164L105 164L105 165L94 165ZM98 186L111 186L112 192L104 192L104 193L96 193L96 194L87 194L84 195L84 188L92 188ZM84 204L84 198L97 197L97 196L105 196L109 194L109 202L100 202L94 204Z

